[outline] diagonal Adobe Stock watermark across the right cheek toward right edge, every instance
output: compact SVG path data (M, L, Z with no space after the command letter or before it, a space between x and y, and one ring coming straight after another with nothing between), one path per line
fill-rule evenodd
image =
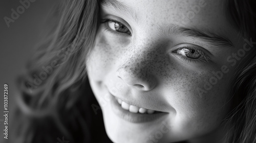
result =
M244 39L245 43L243 45L242 49L239 49L236 53L232 53L227 57L227 62L230 63L229 66L234 66L237 64L238 61L240 61L245 55L246 52L249 52L253 44L256 44L256 42L252 41L252 38L250 38L250 41L248 39ZM203 89L200 87L197 87L197 91L199 93L199 97L202 98L202 95L207 93L214 85L218 83L219 80L221 80L225 74L229 72L228 65L222 65L220 70L218 71L212 71L211 73L214 75L208 79L208 81L204 81L204 87Z

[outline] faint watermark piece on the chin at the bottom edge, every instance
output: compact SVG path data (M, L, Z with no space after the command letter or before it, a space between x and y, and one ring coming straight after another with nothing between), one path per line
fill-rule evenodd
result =
M150 135L144 143L154 143L160 141L163 135L168 133L171 130L172 126L168 125L166 122L162 122L162 126L159 131L156 131L154 134Z

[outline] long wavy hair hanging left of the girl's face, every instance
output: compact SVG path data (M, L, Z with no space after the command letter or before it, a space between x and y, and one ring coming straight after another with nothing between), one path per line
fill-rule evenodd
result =
M63 1L56 26L18 78L20 94L11 142L91 140L86 59L99 26L99 1Z

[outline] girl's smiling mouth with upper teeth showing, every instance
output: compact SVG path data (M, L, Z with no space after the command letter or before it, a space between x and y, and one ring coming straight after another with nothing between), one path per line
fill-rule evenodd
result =
M167 116L167 112L161 112L151 109L138 107L128 104L121 99L113 96L111 93L111 106L116 115L125 121L131 123L146 123L158 121L160 118Z

